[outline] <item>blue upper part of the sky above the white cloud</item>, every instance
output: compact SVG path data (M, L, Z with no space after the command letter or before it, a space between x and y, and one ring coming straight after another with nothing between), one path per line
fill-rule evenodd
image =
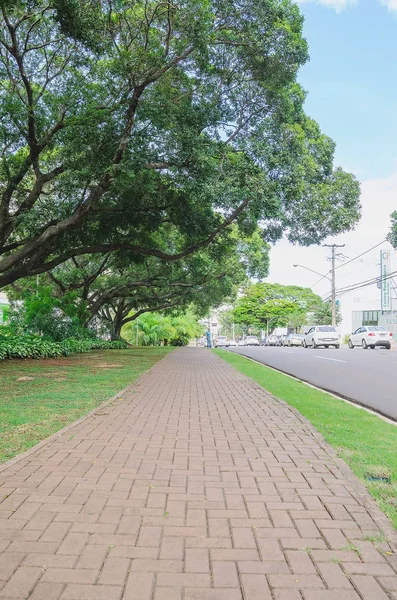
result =
M336 7L344 2L324 1ZM300 4L311 57L299 75L308 91L306 112L336 141L336 162L360 179L397 170L394 2L394 12L380 0L347 4L339 12L317 3Z

